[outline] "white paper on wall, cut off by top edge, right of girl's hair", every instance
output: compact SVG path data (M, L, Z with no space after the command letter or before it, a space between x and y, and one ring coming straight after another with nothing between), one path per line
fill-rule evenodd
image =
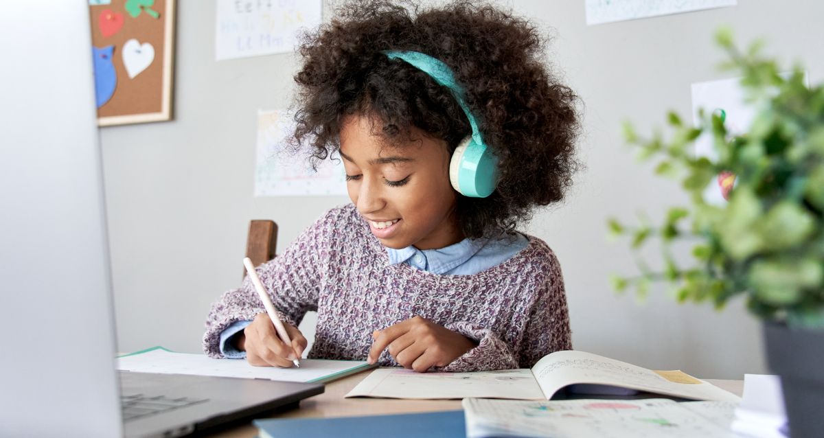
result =
M587 24L592 26L736 4L737 0L587 0Z

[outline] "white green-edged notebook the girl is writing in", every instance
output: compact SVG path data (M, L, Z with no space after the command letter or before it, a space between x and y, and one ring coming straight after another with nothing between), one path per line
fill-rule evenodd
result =
M376 366L365 361L321 359L301 359L300 368L250 366L240 359L213 359L204 354L171 352L163 347L152 347L117 358L117 369L123 371L311 383L330 382Z

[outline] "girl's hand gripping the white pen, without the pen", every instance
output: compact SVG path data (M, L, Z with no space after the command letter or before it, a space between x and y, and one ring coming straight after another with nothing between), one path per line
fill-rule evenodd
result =
M293 366L292 360L303 355L307 338L293 325L283 323L283 327L292 340L291 346L280 340L269 315L255 315L252 323L243 329L243 334L237 340L237 348L246 352L246 361L253 366Z

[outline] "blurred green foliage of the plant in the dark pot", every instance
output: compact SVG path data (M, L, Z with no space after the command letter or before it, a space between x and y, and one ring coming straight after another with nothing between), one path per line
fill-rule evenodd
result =
M650 282L669 283L678 301L712 301L723 307L733 296L761 319L791 327L824 329L824 87L806 86L803 69L780 74L761 54L761 42L741 51L730 30L718 44L729 60L723 68L741 73L756 117L746 133L728 133L722 114L700 114L698 126L670 112L671 135L643 139L625 123L627 142L655 172L681 181L690 207L672 207L661 226L625 226L609 220L611 233L629 235L638 277L612 278L617 291ZM718 159L695 156L692 144L711 133ZM705 201L718 175L735 179L725 205ZM664 268L651 270L639 249L651 237L662 241ZM694 263L679 266L672 245L695 242Z

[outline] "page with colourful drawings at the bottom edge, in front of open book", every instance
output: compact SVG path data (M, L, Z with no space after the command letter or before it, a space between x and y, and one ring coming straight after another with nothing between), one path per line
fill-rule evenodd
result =
M662 398L644 400L564 400L523 402L466 398L466 436L546 436L574 438L732 438L719 426L681 403ZM715 407L713 416L728 415L732 405ZM711 411L713 408L705 408ZM723 411L723 412L721 412Z

